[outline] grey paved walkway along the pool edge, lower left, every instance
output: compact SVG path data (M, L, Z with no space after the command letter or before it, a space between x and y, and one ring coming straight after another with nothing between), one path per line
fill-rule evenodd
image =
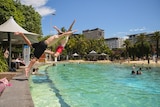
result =
M19 72L10 83L12 86L6 87L0 96L0 107L34 107L25 74Z

